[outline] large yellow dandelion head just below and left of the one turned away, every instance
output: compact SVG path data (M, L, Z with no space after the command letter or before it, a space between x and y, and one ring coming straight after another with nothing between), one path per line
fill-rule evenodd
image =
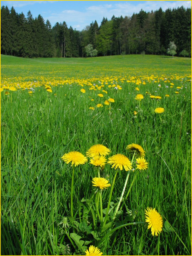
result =
M131 162L129 161L129 159L122 155L122 154L116 154L114 156L111 156L108 158L108 164L112 164L112 167L115 167L115 169L117 169L117 167L120 168L120 170L123 170L123 167L125 168L126 171L131 170L132 166L131 166Z

